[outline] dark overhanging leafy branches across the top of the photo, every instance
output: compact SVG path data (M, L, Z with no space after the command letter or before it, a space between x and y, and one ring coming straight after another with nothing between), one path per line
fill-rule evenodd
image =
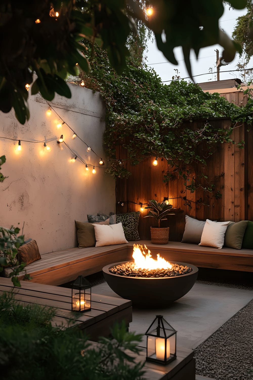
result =
M246 0L230 0L229 3L242 9ZM55 93L69 98L71 93L64 79L68 74L78 74L76 63L84 72L89 70L88 60L80 53L86 48L80 43L82 38L106 49L118 73L126 68L130 52L134 52L135 64L141 62L141 43L135 46L131 43L132 31L138 34L140 25L139 41L145 41L145 35L154 32L158 48L175 65L178 62L173 49L182 46L190 75L191 49L198 57L201 47L218 43L224 47L222 58L226 62L233 60L237 50L241 52L240 43L231 41L218 26L224 11L222 0L183 3L161 0L151 1L149 5L154 8L152 17L146 16L144 0L2 0L0 110L9 112L13 107L22 124L29 119L25 85L32 83L33 72L38 78L31 88L32 94L40 92L49 101ZM35 22L37 20L39 22ZM151 32L145 34L147 29ZM134 38L134 43L136 41Z

